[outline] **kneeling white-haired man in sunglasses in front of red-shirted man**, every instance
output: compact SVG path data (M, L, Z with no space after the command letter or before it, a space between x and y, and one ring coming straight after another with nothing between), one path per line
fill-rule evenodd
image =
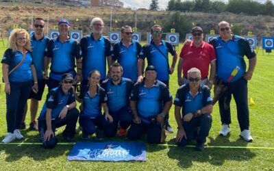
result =
M175 119L178 124L176 136L178 145L186 146L190 140L195 139L197 140L197 150L202 151L211 128L212 116L210 114L213 105L210 89L201 84L199 69L190 68L188 70L188 83L178 88L174 105ZM197 133L197 137L195 137L195 133Z

